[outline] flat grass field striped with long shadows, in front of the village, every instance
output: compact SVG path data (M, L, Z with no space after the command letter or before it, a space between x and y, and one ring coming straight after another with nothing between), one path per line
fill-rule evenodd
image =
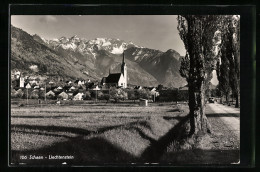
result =
M174 103L11 106L11 163L95 165L154 162L186 118ZM30 156L31 155L31 156ZM49 155L73 159L49 159ZM33 157L43 159L30 159ZM26 157L26 158L25 158Z

